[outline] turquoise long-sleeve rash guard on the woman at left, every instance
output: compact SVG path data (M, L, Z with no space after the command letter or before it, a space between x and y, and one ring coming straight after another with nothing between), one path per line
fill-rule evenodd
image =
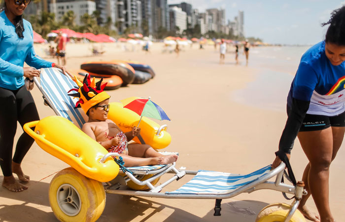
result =
M26 62L36 69L52 67L35 54L33 28L23 19L24 38L19 38L5 11L0 12L0 87L16 90L24 85L23 66Z

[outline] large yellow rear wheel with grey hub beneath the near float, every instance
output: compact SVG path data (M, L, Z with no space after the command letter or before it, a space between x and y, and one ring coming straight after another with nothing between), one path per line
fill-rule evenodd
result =
M61 222L95 222L104 211L104 187L69 167L51 181L49 202Z

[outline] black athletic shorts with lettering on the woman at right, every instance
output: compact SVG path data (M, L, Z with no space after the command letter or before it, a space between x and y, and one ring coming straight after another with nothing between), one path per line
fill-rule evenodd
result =
M286 110L287 114L289 114L290 108L287 107ZM330 126L345 127L345 112L334 116L313 115L307 113L306 117L303 119L300 132L323 130Z

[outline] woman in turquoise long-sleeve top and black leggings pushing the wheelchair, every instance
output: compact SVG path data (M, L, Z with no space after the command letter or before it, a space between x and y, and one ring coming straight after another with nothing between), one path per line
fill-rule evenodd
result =
M29 181L21 162L34 143L34 139L24 132L18 139L12 159L17 121L23 127L27 122L39 120L33 97L24 86L24 77L39 76L36 69L55 65L35 54L32 26L22 17L29 3L30 0L5 0L4 10L0 12L0 167L2 186L15 192L28 188L16 181L13 173L21 182ZM24 61L30 67L23 68ZM65 73L64 67L55 67Z

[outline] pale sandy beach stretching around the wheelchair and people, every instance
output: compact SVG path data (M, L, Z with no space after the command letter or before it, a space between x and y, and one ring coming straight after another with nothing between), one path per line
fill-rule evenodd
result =
M56 62L44 55L46 48L46 44L35 44L38 55ZM154 43L147 54L139 48L124 51L121 44L106 43L102 45L103 55L92 56L90 48L91 43L67 44L67 69L79 69L80 64L87 61L112 59L141 61L153 68L156 77L147 83L131 84L107 93L112 102L131 96L150 96L167 112L172 121L159 123L168 124L172 143L164 150L179 152L177 168L246 174L273 162L286 121L286 96L304 48L295 51L285 47L251 48L248 67L242 51L240 65L235 64L232 51L226 54L225 64L219 65L218 49L206 46L199 50L197 44L182 48L179 57L175 53L163 53L163 43ZM282 57L272 57L274 52ZM40 118L54 115L43 105L37 87L32 94ZM15 143L21 134L18 124ZM330 174L330 206L339 222L345 221L344 146L343 143ZM307 163L296 141L291 165L297 180L302 179ZM68 165L34 143L22 166L25 174L31 177L27 184L29 189L13 193L0 187L0 221L56 222L49 205L49 183L54 173ZM47 177L49 175L52 176ZM163 176L160 182L168 177ZM1 175L0 181L2 178ZM174 190L189 179L191 177L186 176L165 190ZM104 213L98 221L253 222L263 207L274 202L291 203L277 191L259 190L224 199L221 217L214 217L214 200L107 194ZM312 198L307 205L316 211Z

